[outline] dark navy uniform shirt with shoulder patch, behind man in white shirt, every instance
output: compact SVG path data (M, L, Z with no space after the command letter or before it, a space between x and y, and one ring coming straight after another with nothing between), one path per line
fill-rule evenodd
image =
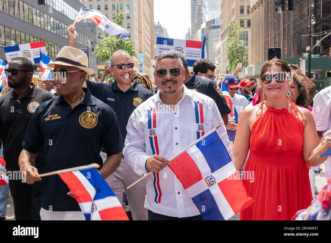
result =
M185 86L188 89L195 90L212 98L215 101L221 115L229 114L231 112L226 100L223 97L221 89L213 80L209 78L202 79L202 77L193 72L191 78Z

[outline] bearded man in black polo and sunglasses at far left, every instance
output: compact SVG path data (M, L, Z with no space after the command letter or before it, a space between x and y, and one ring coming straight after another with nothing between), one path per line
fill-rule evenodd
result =
M0 146L3 142L6 169L7 172L10 171L10 174L14 175L17 174L15 171L20 170L17 163L31 116L41 103L54 96L31 83L33 64L24 57L12 59L5 72L8 75L8 86L13 90L0 97ZM43 173L42 153L36 157L35 166ZM20 178L9 179L16 220L40 220L39 202L43 182L28 185L22 183Z

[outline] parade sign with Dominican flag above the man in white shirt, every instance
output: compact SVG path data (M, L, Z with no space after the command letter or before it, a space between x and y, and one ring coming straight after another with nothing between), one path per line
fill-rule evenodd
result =
M164 51L178 51L184 54L187 65L193 67L194 62L201 58L202 41L171 39L164 37L156 38L155 59ZM207 59L207 49L205 48Z

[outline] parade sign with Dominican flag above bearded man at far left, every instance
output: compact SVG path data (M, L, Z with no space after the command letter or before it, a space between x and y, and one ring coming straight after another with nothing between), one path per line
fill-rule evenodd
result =
M32 43L25 43L16 46L4 47L7 61L10 62L13 58L24 57L30 60L33 64L40 61L40 50L47 55L45 42L38 41Z

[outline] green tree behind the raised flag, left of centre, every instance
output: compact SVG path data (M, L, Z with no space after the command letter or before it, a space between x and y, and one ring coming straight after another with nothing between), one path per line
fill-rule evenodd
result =
M124 22L123 15L124 15L124 10L119 12L118 3L117 3L116 16L113 22L123 27L123 22ZM136 49L134 48L134 41L132 41L131 38L125 40L108 33L106 33L106 37L101 36L101 38L103 40L95 48L97 52L98 62L107 63L107 61L110 61L110 57L112 56L112 54L118 50L127 51L131 57L137 55ZM106 79L106 81L114 82L114 78L113 77L108 78L108 80Z

